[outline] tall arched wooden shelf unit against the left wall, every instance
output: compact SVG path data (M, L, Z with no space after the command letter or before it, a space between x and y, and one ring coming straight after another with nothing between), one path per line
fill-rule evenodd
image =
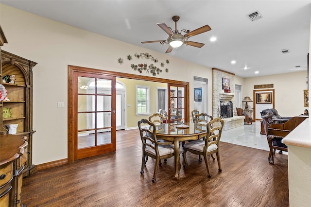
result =
M0 133L8 134L8 124L18 124L17 135L27 137L27 162L23 177L36 172L32 164L33 147L33 67L37 63L1 50L1 84L7 90L9 101L0 103ZM15 75L15 83L3 83L6 75ZM12 116L4 118L3 109L12 110Z

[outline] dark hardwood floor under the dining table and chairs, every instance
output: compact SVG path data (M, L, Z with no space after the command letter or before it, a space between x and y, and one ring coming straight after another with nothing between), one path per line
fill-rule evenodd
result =
M221 142L221 164L187 154L189 166L174 179L174 158L158 169L154 159L140 174L138 129L117 132L117 152L77 160L23 179L27 207L288 207L287 155L268 162L268 151ZM182 162L182 156L181 156Z

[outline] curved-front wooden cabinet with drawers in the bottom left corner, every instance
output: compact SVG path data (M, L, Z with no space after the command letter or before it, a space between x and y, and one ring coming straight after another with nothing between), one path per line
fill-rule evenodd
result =
M0 135L0 207L21 207L26 137Z

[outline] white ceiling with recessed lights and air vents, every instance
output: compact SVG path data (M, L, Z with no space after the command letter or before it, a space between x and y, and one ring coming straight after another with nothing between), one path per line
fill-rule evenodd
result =
M208 24L211 31L168 55L211 68L254 77L307 70L310 41L310 0L1 0L3 4L133 45L165 53L168 45L141 44L165 40L156 25L195 30ZM247 15L259 10L263 18ZM210 42L211 37L217 41ZM282 53L281 50L290 50ZM231 61L236 60L232 65ZM244 69L247 66L249 69ZM297 68L297 66L300 66ZM259 71L255 74L255 71Z

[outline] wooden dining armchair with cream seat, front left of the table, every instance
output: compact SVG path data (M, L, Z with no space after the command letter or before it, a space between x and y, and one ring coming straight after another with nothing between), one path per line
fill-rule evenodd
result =
M148 127L141 127L141 124L145 124ZM140 132L140 138L142 141L142 161L140 174L144 173L144 167L148 161L148 157L155 159L155 170L152 182L155 183L156 172L161 159L167 159L174 156L173 142L160 142L155 135L155 124L142 119L138 121L138 129Z

